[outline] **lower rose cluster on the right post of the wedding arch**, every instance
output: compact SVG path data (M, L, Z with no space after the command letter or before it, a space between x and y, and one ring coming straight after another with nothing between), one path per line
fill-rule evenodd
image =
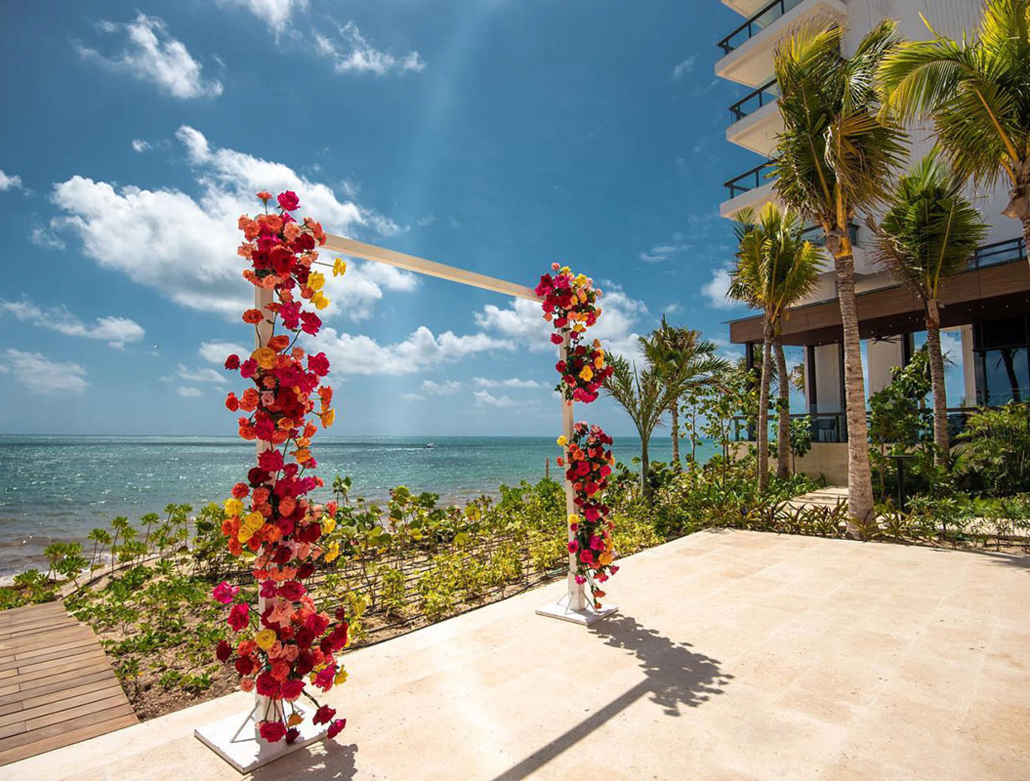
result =
M577 583L588 583L594 607L600 608L604 583L619 571L615 561L614 524L608 519L609 508L600 500L608 487L614 456L609 446L612 438L599 426L576 423L572 441L558 438L565 448L565 457L558 459L558 466L565 467L565 479L573 486L573 501L578 515L569 516L573 539L569 552L576 556Z

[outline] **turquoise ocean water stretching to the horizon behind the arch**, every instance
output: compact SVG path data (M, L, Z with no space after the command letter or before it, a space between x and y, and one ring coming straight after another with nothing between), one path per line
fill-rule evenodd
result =
M436 447L425 448L431 441ZM354 495L384 499L391 487L407 485L445 503L496 495L501 483L537 481L547 457L555 476L560 454L548 437L320 437L313 449L327 484L350 475ZM613 449L628 464L640 441L617 437ZM698 457L712 451L706 446ZM171 502L220 502L245 476L253 452L236 437L0 436L0 576L45 570L48 543L81 540L116 515L135 522ZM652 439L650 453L667 462L670 438Z

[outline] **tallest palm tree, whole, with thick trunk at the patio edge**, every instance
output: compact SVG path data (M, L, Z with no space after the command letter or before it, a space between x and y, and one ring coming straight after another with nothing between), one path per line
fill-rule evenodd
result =
M881 113L874 84L880 63L898 44L897 23L881 22L851 58L840 54L843 35L840 28L804 28L777 52L784 131L775 165L780 198L823 229L833 256L844 332L848 531L863 537L872 520L872 476L848 226L857 210L868 212L883 200L905 136Z

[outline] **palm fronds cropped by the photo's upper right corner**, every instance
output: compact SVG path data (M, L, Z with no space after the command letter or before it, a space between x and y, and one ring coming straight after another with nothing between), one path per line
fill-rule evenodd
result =
M925 20L924 20L925 22ZM933 117L955 172L1009 184L1002 214L1019 219L1030 246L1030 0L988 0L975 34L902 43L880 66L888 107Z

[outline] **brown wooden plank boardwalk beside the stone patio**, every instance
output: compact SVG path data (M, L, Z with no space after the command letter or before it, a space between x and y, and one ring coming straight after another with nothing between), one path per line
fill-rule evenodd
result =
M0 611L0 766L136 722L100 641L62 603Z

